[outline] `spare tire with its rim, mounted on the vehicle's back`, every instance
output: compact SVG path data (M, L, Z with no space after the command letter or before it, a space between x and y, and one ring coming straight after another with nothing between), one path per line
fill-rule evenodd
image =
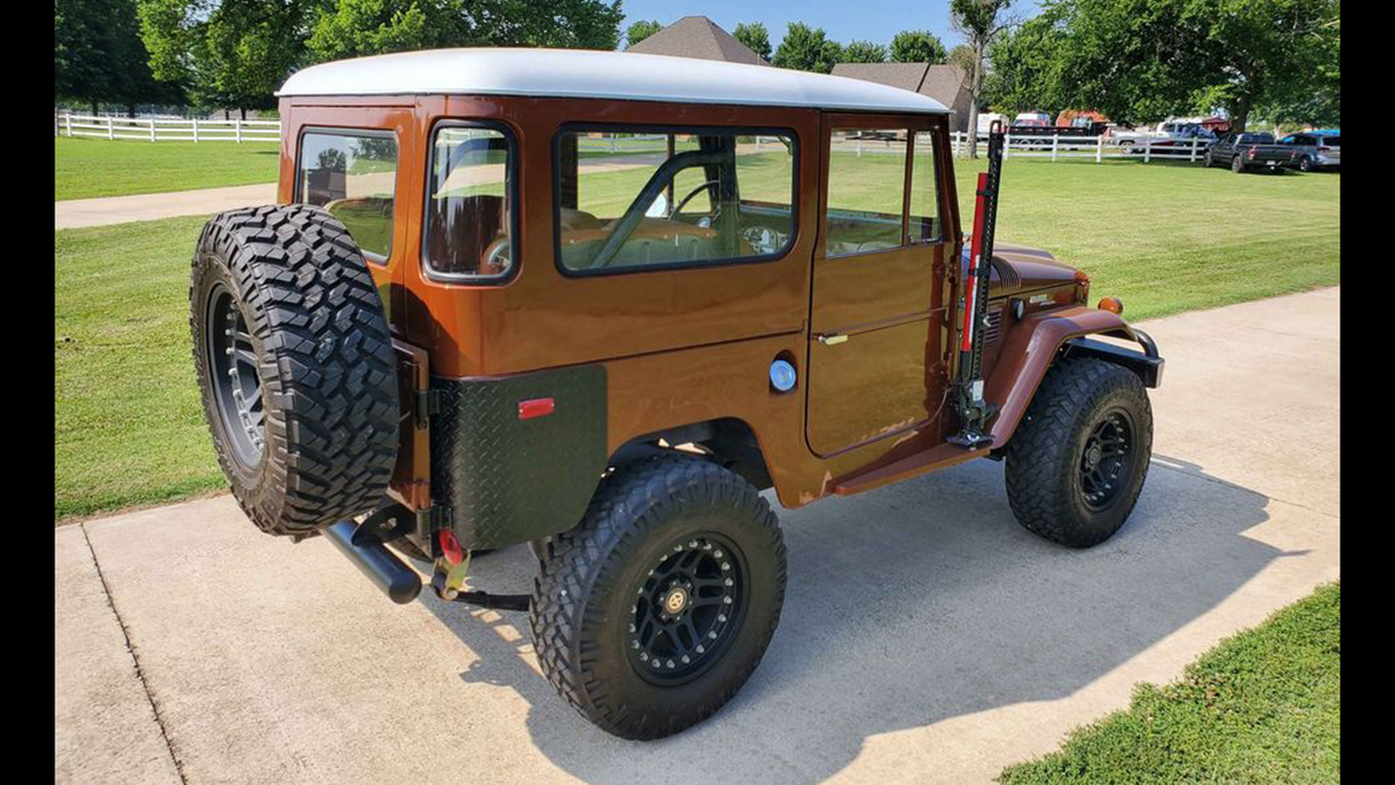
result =
M243 511L296 538L372 511L398 457L396 362L347 229L306 204L233 210L193 265L204 415Z

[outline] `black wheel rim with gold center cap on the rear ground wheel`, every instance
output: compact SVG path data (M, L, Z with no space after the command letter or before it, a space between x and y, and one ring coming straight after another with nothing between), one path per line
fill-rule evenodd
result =
M691 682L721 659L746 613L745 557L725 536L674 541L633 589L625 650L647 682Z

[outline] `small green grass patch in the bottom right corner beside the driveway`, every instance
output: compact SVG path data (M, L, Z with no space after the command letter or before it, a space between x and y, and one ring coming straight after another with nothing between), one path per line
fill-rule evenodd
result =
M1127 711L1060 751L1003 771L1007 785L1338 782L1342 591L1328 585L1216 645L1182 680L1140 684Z

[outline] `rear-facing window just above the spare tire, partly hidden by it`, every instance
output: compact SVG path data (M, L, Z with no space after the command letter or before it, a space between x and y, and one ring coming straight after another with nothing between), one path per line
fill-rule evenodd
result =
M297 198L343 222L364 256L392 253L398 140L388 133L308 131L300 137Z

